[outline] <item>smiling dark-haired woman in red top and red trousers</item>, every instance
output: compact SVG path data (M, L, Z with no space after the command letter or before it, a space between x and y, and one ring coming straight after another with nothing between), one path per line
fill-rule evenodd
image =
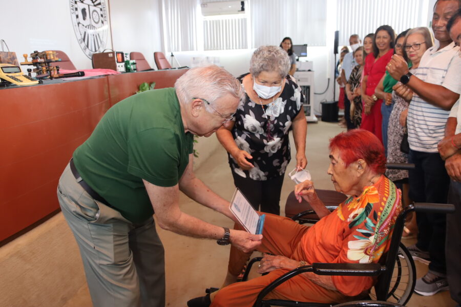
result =
M386 65L394 53L395 34L390 26L376 29L373 38L373 53L365 58L362 81L363 114L361 128L370 131L383 142L381 133L381 99L374 95L374 89L386 73Z

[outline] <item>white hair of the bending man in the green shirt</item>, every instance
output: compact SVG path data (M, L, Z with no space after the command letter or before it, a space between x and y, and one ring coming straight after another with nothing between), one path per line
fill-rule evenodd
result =
M231 94L240 101L243 99L240 82L231 73L216 65L191 68L176 80L175 89L182 104L192 102L193 97L213 103L226 94ZM213 108L207 103L204 106L207 112L213 112Z

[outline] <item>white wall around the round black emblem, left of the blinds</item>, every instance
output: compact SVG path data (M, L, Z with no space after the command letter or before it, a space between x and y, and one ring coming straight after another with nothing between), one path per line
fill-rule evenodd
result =
M116 51L142 52L151 65L154 51L162 50L160 0L136 0L127 5L125 0L107 0L112 25L106 48ZM69 0L2 0L8 8L2 14L4 25L0 39L10 51L16 52L19 62L23 53L34 50L62 50L77 69L91 69L89 59L78 45L72 26ZM29 67L22 67L26 71Z

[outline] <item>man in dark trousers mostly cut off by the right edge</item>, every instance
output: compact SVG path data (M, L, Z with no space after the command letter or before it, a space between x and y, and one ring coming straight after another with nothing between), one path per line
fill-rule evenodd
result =
M447 24L447 30L455 44L461 43L461 9ZM459 53L461 56L461 53ZM461 81L461 77L460 77ZM448 203L454 204L455 212L447 215L447 239L445 252L447 258L447 279L451 298L461 307L461 108L459 100L453 105L445 128L445 138L438 143L438 152L445 160L445 168L450 176Z

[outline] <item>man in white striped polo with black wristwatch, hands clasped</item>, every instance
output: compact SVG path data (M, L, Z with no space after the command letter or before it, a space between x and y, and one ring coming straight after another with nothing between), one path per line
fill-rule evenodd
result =
M405 60L394 55L387 66L390 75L400 80L395 91L412 95L407 127L410 144L410 198L414 202L446 203L449 176L438 154L437 143L444 138L445 124L453 104L459 99L461 58L459 47L450 38L447 22L461 7L461 1L437 0L432 16L435 44L423 55L412 75ZM411 48L415 49L420 46ZM413 258L429 264L429 272L416 281L415 292L433 295L448 290L445 261L445 214L418 212L417 243L408 249Z

